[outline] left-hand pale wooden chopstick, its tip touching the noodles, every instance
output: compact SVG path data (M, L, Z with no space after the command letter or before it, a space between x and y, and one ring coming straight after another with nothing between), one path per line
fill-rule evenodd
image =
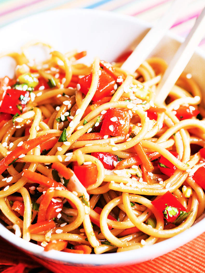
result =
M191 2L191 0L175 0L172 2L171 7L159 19L157 24L150 29L142 41L140 41L130 57L122 64L121 68L130 73L134 73L163 38L167 30L175 22L178 14L189 2Z

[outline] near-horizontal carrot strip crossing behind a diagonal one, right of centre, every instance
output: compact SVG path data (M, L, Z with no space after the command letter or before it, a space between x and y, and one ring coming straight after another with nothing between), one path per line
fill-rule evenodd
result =
M158 157L160 157L160 153L158 152L153 152L153 153L147 153L147 156L150 158L150 160L154 160ZM133 156L133 157L128 157L126 159L121 160L118 162L116 165L116 170L123 170L125 168L130 168L133 165L141 165L142 161L139 158L139 156Z

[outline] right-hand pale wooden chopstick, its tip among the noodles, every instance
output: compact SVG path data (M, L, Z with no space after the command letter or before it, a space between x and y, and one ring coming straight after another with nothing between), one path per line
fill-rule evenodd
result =
M166 69L162 80L156 89L156 102L163 103L175 82L188 64L196 46L200 43L205 33L205 8L196 20L184 43L181 44L176 54Z

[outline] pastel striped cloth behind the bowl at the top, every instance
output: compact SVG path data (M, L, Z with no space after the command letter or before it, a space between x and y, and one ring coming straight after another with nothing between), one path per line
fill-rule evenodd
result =
M172 0L0 0L0 27L42 11L65 8L107 10L131 15L153 25L169 8L171 2ZM192 0L191 4L184 8L171 31L186 37L204 4L204 0ZM205 50L205 35L199 46Z

